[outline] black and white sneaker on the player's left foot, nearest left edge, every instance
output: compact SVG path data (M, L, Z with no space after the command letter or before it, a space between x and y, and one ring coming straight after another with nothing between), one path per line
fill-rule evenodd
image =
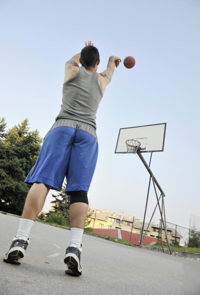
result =
M12 241L11 247L8 250L7 253L4 255L4 261L14 264L20 264L22 258L26 254L26 248L29 244L29 238L28 241L26 240L20 240L16 238L16 240Z

